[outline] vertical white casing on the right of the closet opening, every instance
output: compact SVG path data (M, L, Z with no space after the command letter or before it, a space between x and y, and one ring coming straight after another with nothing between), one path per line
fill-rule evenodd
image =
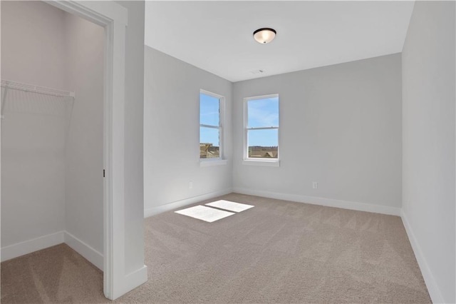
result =
M125 281L125 26L113 23L108 31L106 49L111 48L111 56L106 56L111 72L117 76L105 79L105 119L104 119L104 168L105 181L105 221L104 221L104 283L106 298L114 300L123 293ZM115 34L118 33L118 34ZM109 42L111 41L111 42ZM111 43L111 44L110 44ZM117 50L117 54L115 51ZM122 50L122 51L121 51ZM118 58L120 57L120 58ZM108 273L107 273L108 272Z

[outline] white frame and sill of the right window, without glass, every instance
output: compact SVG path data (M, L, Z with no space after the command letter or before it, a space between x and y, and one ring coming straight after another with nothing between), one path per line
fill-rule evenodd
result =
M261 127L261 128L249 128L248 126L248 107L247 103L249 101L254 101L257 99L266 99L266 98L279 98L279 94L270 94L270 95L262 95L262 96L252 96L244 98L244 159L242 164L244 165L253 165L253 166L272 166L272 167L279 167L280 166L280 118L279 118L279 126L277 127ZM279 115L280 115L280 99L279 99ZM248 133L249 130L270 130L270 129L277 129L277 158L270 159L270 158L249 158L249 143L248 143Z

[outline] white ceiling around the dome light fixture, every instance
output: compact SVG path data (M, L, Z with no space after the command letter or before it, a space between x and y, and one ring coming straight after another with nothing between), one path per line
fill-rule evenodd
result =
M229 81L403 49L413 1L146 1L145 44ZM253 31L276 29L259 44ZM252 71L264 70L263 74Z

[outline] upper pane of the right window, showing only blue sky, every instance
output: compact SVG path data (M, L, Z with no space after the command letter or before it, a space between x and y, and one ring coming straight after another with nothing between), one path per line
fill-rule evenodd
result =
M279 126L279 97L248 101L247 114L249 128Z

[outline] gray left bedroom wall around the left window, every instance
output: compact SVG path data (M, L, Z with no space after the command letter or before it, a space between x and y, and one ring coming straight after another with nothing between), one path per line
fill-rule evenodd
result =
M226 165L199 166L200 89L225 97ZM231 113L231 82L145 46L146 216L169 203L232 188Z

